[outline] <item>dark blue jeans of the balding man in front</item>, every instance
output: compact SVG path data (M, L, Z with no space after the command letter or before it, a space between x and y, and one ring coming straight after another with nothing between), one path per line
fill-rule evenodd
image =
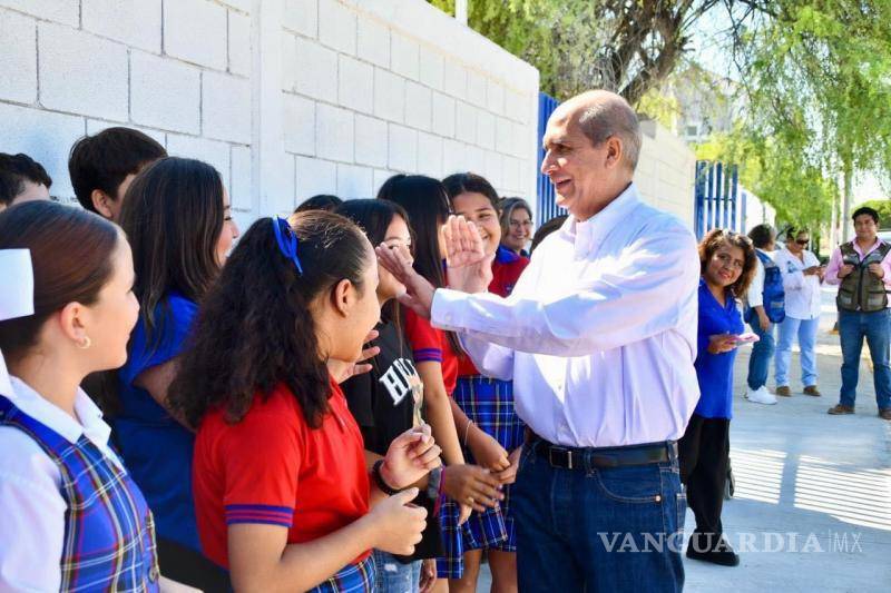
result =
M678 462L564 470L523 446L513 512L522 592L681 591Z

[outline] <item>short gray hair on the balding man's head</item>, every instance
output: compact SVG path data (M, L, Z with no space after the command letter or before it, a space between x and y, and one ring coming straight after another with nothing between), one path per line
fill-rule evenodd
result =
M631 107L619 96L598 100L581 110L578 125L594 146L600 146L610 136L621 141L623 158L628 168L637 168L640 157L640 125Z

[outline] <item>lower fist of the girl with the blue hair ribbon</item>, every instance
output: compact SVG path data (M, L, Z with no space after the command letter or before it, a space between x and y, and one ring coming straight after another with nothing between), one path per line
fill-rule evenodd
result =
M411 555L427 526L427 510L410 504L418 488L409 488L378 503L369 513L374 522L374 547L391 554Z

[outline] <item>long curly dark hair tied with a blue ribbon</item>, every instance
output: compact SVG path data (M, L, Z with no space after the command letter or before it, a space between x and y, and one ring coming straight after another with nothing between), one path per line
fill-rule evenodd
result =
M207 293L170 386L169 404L193 426L212 408L241 421L255 393L284 383L306 423L320 426L331 396L310 305L342 279L360 291L371 265L368 240L346 218L313 210L288 219L298 239L294 261L282 255L271 218L255 221Z

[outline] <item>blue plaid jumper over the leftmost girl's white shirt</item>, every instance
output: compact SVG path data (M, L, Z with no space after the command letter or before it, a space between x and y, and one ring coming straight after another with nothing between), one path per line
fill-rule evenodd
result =
M158 591L155 524L127 472L86 436L65 437L0 397L0 424L21 429L61 474L68 510L62 545L62 591Z

